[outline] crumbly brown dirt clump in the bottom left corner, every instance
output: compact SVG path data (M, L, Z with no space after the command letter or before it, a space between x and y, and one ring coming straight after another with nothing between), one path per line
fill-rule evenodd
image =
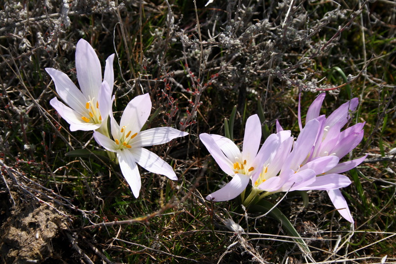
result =
M65 217L45 204L22 202L0 229L2 263L41 263L52 255L51 240L66 229Z

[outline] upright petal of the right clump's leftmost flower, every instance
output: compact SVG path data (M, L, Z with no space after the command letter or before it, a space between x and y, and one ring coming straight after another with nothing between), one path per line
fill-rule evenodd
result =
M261 122L257 114L247 118L245 126L244 145L242 148L242 159L253 160L260 147Z

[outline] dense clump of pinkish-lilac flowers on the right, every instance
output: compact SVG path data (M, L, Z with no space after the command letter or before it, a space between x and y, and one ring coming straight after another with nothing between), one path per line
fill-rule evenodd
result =
M306 124L297 140L277 122L277 133L260 146L261 123L257 115L247 119L242 153L230 139L213 134L200 134L200 139L220 168L232 176L223 188L208 195L207 200L226 201L245 191L251 182L254 196L261 198L277 192L326 190L335 208L353 223L347 202L340 188L351 182L339 174L359 165L366 156L345 162L347 155L363 138L364 123L341 131L351 117L358 100L340 106L327 118L319 115L325 94L319 95L309 107ZM298 111L300 113L300 111ZM251 199L245 200L248 203Z

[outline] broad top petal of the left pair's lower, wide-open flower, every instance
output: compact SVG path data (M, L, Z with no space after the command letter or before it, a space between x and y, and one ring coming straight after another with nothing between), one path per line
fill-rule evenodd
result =
M132 133L139 132L151 112L151 100L148 94L135 97L125 107L121 116L120 127L126 126Z

